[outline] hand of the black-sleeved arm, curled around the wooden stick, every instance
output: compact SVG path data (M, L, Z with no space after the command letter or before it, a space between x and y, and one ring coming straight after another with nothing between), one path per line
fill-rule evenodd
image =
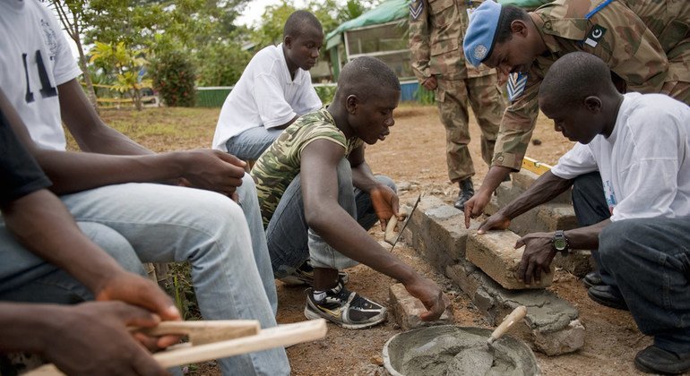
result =
M132 305L137 305L155 314L159 320L181 320L182 317L177 311L175 304L159 286L153 281L137 276L134 273L123 271L117 273L112 278L100 286L98 291L94 291L98 301L122 301ZM156 322L158 324L158 322ZM137 333L136 338L151 350L165 348L179 342L178 336L163 336L160 338L150 338L142 333Z

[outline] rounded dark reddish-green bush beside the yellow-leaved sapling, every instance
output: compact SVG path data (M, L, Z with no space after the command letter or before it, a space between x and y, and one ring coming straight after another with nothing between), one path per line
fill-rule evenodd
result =
M168 107L194 107L194 65L184 54L171 51L151 64L153 89Z

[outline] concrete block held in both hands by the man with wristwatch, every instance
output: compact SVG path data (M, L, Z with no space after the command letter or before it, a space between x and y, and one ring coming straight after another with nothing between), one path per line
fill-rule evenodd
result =
M468 237L467 260L482 269L499 285L509 290L543 288L551 286L553 266L547 274L542 274L539 284L525 285L515 278L524 248L514 249L520 236L511 231L489 231L487 234L472 234Z

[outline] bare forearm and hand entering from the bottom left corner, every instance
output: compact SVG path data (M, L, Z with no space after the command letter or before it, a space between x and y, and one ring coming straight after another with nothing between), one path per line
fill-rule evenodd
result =
M67 374L167 374L127 330L159 322L119 302L0 303L0 351L37 353Z

